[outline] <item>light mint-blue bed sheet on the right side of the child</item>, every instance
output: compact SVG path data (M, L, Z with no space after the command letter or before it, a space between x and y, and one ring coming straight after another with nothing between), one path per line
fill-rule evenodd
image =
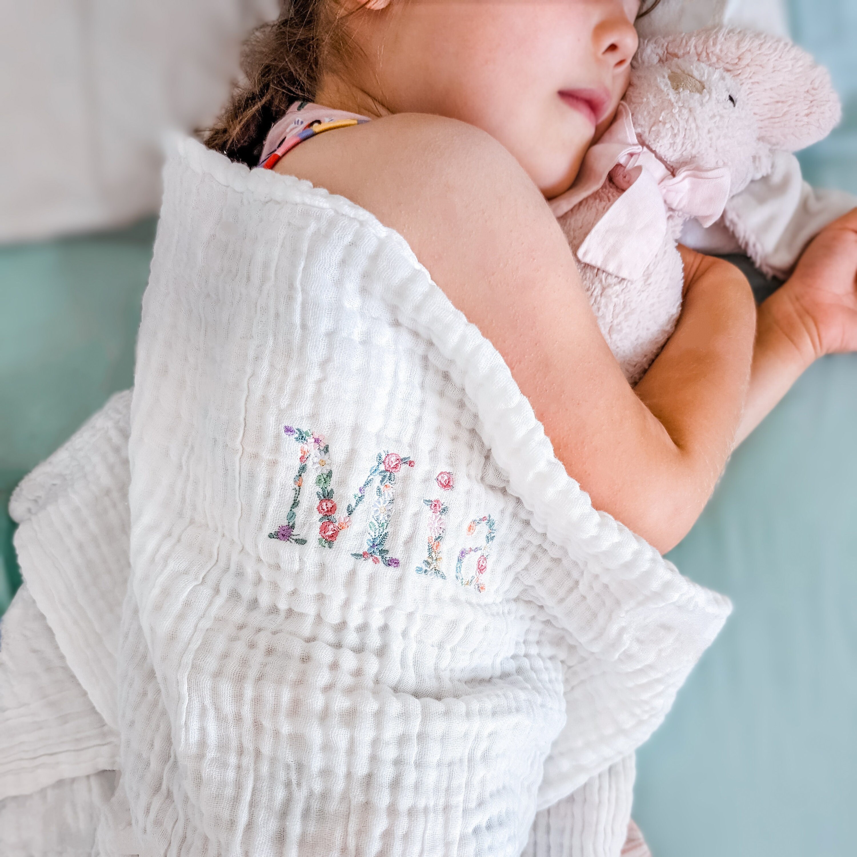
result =
M857 194L857 2L789 0L845 117L800 153ZM655 857L854 857L857 357L826 357L738 449L670 559L734 614L638 753Z

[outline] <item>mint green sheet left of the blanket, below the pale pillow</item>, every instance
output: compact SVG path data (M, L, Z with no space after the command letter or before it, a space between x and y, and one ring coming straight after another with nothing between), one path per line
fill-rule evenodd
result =
M154 226L0 247L0 614L20 579L12 488L131 385Z

